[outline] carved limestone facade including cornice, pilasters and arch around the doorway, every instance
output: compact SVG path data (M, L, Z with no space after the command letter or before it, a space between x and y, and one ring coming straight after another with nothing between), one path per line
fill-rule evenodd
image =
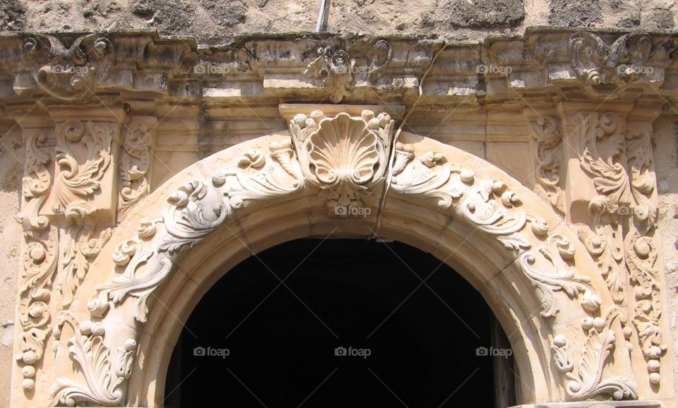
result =
M219 271L335 230L463 275L525 407L674 407L677 47L0 37L11 406L160 406L177 318Z

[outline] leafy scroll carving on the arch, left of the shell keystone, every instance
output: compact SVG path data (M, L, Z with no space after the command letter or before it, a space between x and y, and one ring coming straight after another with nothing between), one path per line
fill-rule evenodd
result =
M271 143L269 149L270 164L260 151L250 150L240 157L236 167L216 172L213 186L192 181L172 193L157 221L165 226L162 232L156 232L154 220L142 220L138 239L123 241L114 251L114 262L124 267L124 272L99 288L97 297L88 302L90 311L103 316L110 306L133 296L137 299L135 318L144 323L148 296L188 248L250 200L287 196L303 188L299 169L292 162L291 144ZM145 240L150 244L142 248L141 241Z

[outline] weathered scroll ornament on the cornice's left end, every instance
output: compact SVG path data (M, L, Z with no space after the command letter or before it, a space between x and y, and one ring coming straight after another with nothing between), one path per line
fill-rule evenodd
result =
M30 35L23 47L35 83L60 100L91 97L115 62L112 40L100 34L83 35L70 46L52 35Z

